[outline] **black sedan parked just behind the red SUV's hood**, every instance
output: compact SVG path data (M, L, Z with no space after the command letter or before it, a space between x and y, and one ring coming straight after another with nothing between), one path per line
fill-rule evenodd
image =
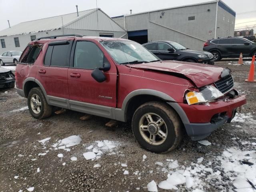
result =
M155 41L143 46L162 60L214 64L210 52L191 50L174 41Z

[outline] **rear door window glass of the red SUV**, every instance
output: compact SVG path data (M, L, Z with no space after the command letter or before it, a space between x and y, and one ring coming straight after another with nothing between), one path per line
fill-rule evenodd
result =
M67 55L69 44L49 45L44 58L44 65L68 67Z

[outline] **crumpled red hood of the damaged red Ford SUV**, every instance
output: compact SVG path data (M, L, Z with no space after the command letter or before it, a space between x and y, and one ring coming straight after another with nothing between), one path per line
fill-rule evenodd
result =
M223 71L223 68L217 66L179 61L150 62L142 64L130 64L127 66L144 70L182 74L192 80L192 82L194 82L198 88L220 80L220 74Z

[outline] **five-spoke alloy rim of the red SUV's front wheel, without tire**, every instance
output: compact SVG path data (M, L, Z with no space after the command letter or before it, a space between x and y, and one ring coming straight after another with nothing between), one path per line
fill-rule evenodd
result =
M142 138L151 145L160 145L167 138L167 126L163 118L147 113L140 118L139 129Z

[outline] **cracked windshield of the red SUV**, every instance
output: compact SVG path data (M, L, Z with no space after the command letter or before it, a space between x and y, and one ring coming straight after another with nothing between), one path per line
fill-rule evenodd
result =
M100 43L118 64L136 64L159 60L158 57L136 42L102 41Z

